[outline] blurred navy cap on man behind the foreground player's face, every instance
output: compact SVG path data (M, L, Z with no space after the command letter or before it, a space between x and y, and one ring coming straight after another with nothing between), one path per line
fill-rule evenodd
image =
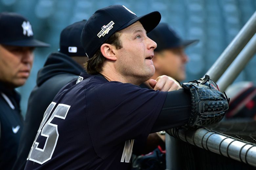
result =
M161 51L168 48L186 47L199 40L182 40L176 32L166 23L160 23L147 36L157 43L154 51Z

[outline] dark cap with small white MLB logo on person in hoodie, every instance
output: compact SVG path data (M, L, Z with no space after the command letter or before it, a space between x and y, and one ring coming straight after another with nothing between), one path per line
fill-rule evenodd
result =
M80 37L86 21L75 22L61 31L59 52L68 56L85 56Z

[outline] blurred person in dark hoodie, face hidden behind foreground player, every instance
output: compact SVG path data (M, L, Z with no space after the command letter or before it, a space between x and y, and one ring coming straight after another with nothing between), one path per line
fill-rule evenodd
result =
M36 86L30 94L24 130L13 169L24 169L43 115L57 92L70 81L77 79L87 61L80 43L82 29L87 20L75 22L60 34L59 52L53 52L38 71Z

